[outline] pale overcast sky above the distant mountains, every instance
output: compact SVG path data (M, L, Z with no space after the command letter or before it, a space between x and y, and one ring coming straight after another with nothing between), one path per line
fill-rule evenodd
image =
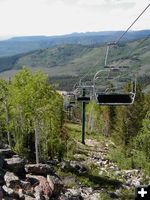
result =
M126 30L150 0L0 0L0 38ZM150 7L132 30L150 29Z

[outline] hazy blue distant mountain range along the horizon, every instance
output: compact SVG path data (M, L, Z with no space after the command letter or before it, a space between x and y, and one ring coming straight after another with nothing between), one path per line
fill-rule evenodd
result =
M95 45L116 41L123 31L72 33L62 36L26 36L0 41L0 57L12 56L61 44ZM122 41L141 39L150 35L150 30L129 31Z

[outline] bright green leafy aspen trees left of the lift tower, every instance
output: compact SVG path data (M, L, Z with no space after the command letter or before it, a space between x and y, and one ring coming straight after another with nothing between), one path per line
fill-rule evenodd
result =
M9 139L11 134L13 149L28 158L33 158L36 151L38 162L55 156L61 159L65 152L63 99L48 84L47 77L23 68L9 85L4 83L0 82L4 91L0 109L5 109L6 115L1 119L1 137L5 131Z

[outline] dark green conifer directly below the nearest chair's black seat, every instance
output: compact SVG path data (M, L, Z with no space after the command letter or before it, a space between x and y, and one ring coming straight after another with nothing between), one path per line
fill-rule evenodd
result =
M133 105L116 108L116 125L114 126L114 139L118 144L132 145L132 140L138 135L145 115L144 94L137 85L136 97Z

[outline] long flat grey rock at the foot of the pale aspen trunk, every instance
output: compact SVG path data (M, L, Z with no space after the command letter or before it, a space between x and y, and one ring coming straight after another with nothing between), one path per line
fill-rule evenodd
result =
M47 164L30 164L25 165L25 171L35 175L54 174L54 168Z

